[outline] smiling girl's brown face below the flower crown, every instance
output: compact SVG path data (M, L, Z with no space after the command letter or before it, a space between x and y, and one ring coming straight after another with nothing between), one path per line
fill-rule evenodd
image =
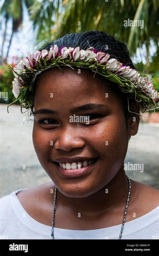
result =
M105 78L80 71L48 69L39 75L35 93L34 148L58 190L69 197L89 196L123 170L129 137L138 130L131 118L126 128L122 103ZM96 161L81 167L79 162L90 159ZM75 164L73 170L63 169L59 162L67 167L76 162L77 169Z

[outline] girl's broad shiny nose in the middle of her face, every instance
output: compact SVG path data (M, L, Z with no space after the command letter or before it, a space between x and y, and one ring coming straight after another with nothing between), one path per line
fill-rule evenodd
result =
M54 140L54 148L64 151L82 148L85 146L85 141L81 135L77 127L71 127L71 125L65 126L63 129L60 129L57 139Z

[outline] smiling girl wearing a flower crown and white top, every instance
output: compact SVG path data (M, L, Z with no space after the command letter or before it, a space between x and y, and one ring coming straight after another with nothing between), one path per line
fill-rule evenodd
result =
M33 144L52 182L1 198L8 239L157 239L157 189L124 159L155 90L127 47L102 31L71 33L14 68L13 93L34 115ZM11 105L11 104L10 104Z

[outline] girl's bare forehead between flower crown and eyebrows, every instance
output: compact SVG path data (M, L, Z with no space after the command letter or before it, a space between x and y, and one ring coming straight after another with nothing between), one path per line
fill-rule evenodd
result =
M95 75L86 68L62 66L61 69L50 68L38 76L35 93L35 105L38 107L61 103L66 104L65 107L67 104L82 105L88 102L106 104L113 101L113 94L101 75Z

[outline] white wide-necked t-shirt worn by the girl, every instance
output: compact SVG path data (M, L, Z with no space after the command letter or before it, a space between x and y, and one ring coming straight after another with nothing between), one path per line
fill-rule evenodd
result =
M50 239L51 226L36 221L22 207L16 196L22 190L0 199L0 239ZM54 239L119 239L121 225L93 230L54 227ZM159 206L140 218L125 222L121 239L159 239Z

